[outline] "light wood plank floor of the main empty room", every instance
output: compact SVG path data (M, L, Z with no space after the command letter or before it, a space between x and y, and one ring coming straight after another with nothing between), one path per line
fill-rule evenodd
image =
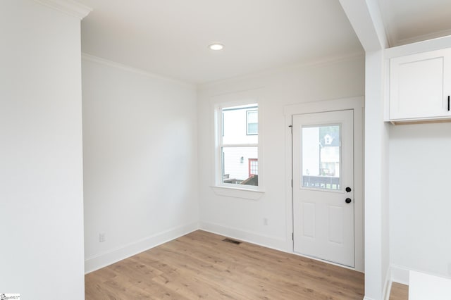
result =
M364 274L198 230L85 276L86 299L362 300Z

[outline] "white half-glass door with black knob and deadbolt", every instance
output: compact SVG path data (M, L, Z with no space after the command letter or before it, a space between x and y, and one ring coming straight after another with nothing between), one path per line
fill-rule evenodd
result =
M293 115L294 251L354 267L353 111Z

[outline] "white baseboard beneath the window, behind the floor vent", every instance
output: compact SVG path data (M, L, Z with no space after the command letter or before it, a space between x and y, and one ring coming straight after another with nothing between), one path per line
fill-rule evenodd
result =
M240 239L244 242L249 242L252 244L257 244L259 246L264 246L266 248L276 249L279 251L288 252L286 248L287 242L285 239L280 237L271 237L266 235L260 235L255 232L249 232L245 230L240 230L233 227L228 227L226 225L200 222L199 229L205 230L216 235L224 235L226 237L232 237L234 239Z

